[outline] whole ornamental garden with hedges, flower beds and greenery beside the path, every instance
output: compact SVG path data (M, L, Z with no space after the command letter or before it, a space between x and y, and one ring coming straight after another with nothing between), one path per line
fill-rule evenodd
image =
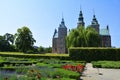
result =
M120 69L119 50L70 48L69 54L0 52L0 80L80 80L87 62L95 68Z

